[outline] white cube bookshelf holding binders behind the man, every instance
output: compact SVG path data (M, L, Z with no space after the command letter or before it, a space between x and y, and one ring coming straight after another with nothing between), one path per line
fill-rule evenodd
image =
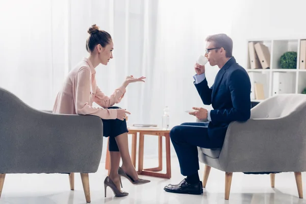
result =
M247 40L246 48L247 48L248 55L247 55L246 71L248 72L250 76L252 86L256 82L264 84L265 99L277 94L275 91L277 90L276 85L275 85L277 84L277 82L276 82L276 79L273 79L273 75L275 77L278 75L282 75L283 79L288 79L288 80L282 81L282 83L285 83L286 88L292 86L292 89L288 88L285 92L283 91L282 93L301 93L302 90L306 88L306 69L299 69L300 40L303 40L303 39L306 39L306 38L249 39ZM271 56L269 69L251 69L250 68L248 42L261 42L269 48L270 56ZM281 56L288 51L297 52L296 69L282 69L279 66L279 60L281 59ZM274 74L275 72L281 72L282 74ZM251 100L252 101L262 101L262 100L254 98L252 94L251 94Z

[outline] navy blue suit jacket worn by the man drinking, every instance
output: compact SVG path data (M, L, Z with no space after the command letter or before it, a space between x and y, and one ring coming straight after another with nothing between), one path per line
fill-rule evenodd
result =
M251 83L246 70L234 57L228 60L216 75L211 88L205 79L195 87L205 105L211 105L208 135L216 147L222 147L227 126L232 121L250 118Z

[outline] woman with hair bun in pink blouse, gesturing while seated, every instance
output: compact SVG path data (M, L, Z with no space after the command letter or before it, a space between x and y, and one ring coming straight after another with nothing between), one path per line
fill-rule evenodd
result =
M110 137L111 159L110 174L104 181L105 194L106 188L110 187L115 196L126 196L129 193L120 190L120 176L126 177L134 185L145 184L150 181L138 178L131 161L125 121L126 114L130 113L112 106L121 101L127 85L134 82L144 82L145 77L138 79L133 78L133 76L126 77L121 87L116 89L111 96L106 96L96 85L95 67L99 64L107 65L113 58L112 37L106 31L100 30L96 24L89 28L88 33L86 49L90 55L88 58L84 58L68 74L64 87L56 98L53 112L96 115L103 120L103 135L104 137ZM92 107L93 102L101 108ZM122 158L121 167L119 167L120 157Z

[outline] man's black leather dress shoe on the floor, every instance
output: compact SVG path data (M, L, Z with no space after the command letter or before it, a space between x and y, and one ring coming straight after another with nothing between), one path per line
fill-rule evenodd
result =
M184 193L194 195L200 195L203 193L201 182L198 182L197 184L189 184L186 179L181 181L180 184L170 184L168 186L165 186L164 190L170 193Z

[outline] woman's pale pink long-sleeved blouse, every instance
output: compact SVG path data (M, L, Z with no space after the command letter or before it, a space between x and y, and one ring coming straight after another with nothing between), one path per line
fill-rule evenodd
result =
M117 110L107 108L121 101L126 91L125 87L121 86L111 96L106 96L96 85L95 73L87 58L72 69L56 97L53 113L96 115L103 119L116 119ZM101 108L92 107L93 102Z

